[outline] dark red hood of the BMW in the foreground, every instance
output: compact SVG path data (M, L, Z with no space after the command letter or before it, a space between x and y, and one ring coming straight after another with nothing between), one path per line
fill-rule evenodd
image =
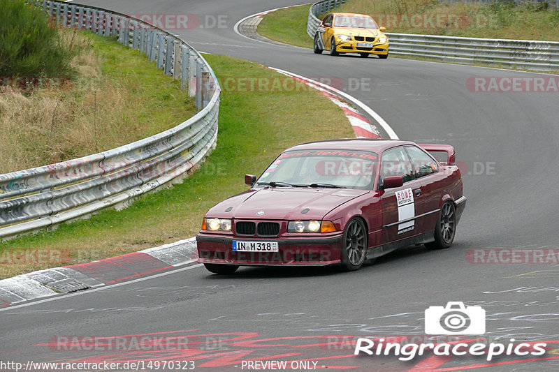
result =
M345 188L258 188L216 204L207 217L269 220L321 220L335 207L364 195ZM308 209L303 214L303 209ZM263 213L262 213L263 212Z

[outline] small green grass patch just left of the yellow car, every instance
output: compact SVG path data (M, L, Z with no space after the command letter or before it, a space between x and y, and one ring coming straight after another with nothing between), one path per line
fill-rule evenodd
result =
M310 5L303 5L268 13L258 25L258 33L282 43L312 47L307 34L309 9Z

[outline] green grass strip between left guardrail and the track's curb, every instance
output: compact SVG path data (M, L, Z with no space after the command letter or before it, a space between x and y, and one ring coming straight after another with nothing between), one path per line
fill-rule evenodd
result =
M230 84L222 93L217 148L201 169L182 184L146 195L123 211L103 211L52 232L1 242L0 278L192 237L205 211L246 190L244 174L259 174L286 147L312 140L354 137L342 110L318 91L246 89L247 78L284 82L286 77L241 59L218 55L205 58L218 79L228 79ZM53 253L60 259L10 262L22 251Z

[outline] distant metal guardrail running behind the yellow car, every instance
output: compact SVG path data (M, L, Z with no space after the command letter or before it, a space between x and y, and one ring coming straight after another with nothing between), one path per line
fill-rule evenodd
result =
M307 34L311 38L314 38L320 24L318 16L342 2L342 0L326 0L311 6L307 22ZM559 42L555 41L392 33L386 35L390 39L390 54L460 64L489 64L537 71L559 70Z

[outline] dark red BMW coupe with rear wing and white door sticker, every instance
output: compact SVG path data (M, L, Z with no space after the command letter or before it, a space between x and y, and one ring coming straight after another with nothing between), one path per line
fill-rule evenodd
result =
M437 151L443 162L430 154ZM455 159L444 144L298 144L205 214L198 262L216 274L241 265L356 270L403 246L449 248L466 204Z

